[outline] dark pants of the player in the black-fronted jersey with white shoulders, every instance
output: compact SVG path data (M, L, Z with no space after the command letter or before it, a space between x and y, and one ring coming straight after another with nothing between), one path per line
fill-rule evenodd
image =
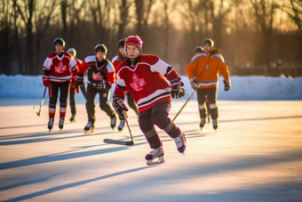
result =
M88 85L86 93L86 110L88 115L88 121L90 121L92 124L95 121L94 98L97 93L99 93L99 108L105 111L107 116L111 118L115 117L115 111L107 103L107 101L109 100L108 98L110 94L110 89L97 89L91 85Z

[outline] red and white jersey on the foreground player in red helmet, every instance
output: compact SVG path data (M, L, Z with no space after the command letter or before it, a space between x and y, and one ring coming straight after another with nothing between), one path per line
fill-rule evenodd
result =
M135 67L123 61L116 69L115 94L124 99L128 91L132 93L139 112L151 108L155 103L171 101L172 80L179 74L171 66L155 55L142 54Z

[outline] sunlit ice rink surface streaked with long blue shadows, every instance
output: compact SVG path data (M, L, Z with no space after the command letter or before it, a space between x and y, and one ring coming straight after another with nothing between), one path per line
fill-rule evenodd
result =
M146 165L150 149L132 110L135 145L120 146L103 140L131 140L127 127L112 130L98 105L94 133L83 133L83 103L74 124L68 108L61 132L57 105L49 133L47 100L40 117L40 100L11 102L0 107L0 201L302 201L302 101L218 101L217 133L211 123L200 130L197 101L189 101L175 120L187 153L156 128L159 166ZM184 103L172 101L171 119Z

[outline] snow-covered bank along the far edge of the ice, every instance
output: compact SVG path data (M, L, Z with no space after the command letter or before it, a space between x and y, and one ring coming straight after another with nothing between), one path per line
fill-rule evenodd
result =
M187 94L180 100L187 100L193 92L186 76L182 76ZM219 77L218 100L256 101L256 100L302 100L302 77L231 77L232 87L224 91L223 77ZM87 81L87 78L85 79ZM113 93L114 87L111 89ZM42 98L44 85L42 76L0 75L0 98ZM48 95L45 95L45 99ZM196 94L192 97L196 99ZM84 100L78 93L76 100Z

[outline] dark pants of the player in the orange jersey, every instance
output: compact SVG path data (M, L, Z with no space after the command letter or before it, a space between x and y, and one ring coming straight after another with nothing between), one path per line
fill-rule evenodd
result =
M204 101L206 99L209 101L211 118L217 119L219 117L216 95L217 95L216 87L197 89L197 101L199 104L199 115L201 118L207 117L204 107Z

